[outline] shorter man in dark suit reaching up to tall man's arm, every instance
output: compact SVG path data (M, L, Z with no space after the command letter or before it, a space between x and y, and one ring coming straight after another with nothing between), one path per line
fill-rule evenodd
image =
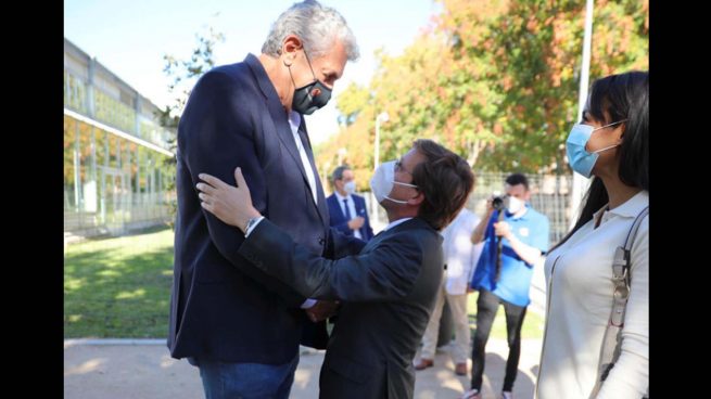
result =
M370 184L390 224L360 254L332 259L263 217L240 169L234 175L237 188L205 173L196 188L203 208L245 233L236 248L252 260L245 267L304 296L343 300L321 366L320 398L412 398L412 359L444 270L439 231L473 186L469 164L431 140L382 164Z

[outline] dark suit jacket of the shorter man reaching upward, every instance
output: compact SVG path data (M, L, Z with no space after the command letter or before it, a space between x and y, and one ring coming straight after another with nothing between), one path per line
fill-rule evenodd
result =
M359 255L329 260L265 219L238 253L304 296L344 301L321 366L321 398L412 398L412 359L444 270L434 229L414 218Z

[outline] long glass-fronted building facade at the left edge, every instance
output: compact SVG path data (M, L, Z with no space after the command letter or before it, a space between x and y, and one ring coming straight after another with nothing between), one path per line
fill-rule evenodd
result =
M65 240L168 222L175 132L157 106L64 39Z

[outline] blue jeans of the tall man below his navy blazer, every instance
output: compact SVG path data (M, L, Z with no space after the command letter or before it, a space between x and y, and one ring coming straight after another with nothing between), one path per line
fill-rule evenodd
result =
M285 364L189 359L200 368L205 399L288 399L299 355Z

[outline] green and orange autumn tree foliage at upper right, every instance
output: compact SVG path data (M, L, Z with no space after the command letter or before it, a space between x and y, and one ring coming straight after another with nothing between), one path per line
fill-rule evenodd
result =
M353 141L366 154L348 150L348 157L372 170L367 154L373 150L374 116L386 111L381 160L397 157L415 139L430 138L482 170L568 171L563 143L577 117L585 3L440 2L432 28L402 55L377 51L380 64L369 87L339 96L348 126L321 145L320 163L332 162ZM648 0L599 1L594 13L591 80L647 69Z

